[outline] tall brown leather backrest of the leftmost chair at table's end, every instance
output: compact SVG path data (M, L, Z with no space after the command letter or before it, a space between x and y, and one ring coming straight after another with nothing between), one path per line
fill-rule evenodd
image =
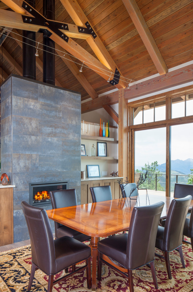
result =
M46 211L21 202L31 242L31 260L47 275L55 273L54 238Z

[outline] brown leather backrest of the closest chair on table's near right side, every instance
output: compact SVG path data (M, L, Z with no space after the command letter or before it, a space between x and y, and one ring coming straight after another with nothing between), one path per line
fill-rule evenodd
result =
M134 207L127 240L127 266L135 269L154 260L155 240L164 202Z

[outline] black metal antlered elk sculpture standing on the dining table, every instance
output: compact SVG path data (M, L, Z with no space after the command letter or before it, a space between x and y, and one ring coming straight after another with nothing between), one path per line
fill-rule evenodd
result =
M122 180L120 178L117 179L117 181L119 183L119 186L121 188L121 197L119 198L120 204L121 204L121 201L122 201L123 198L124 198L124 201L125 201L125 198L128 198L129 197L129 202L128 202L128 199L127 199L127 203L128 203L128 206L130 205L130 209L131 209L131 200L136 200L136 202L137 202L137 197L139 197L139 194L138 194L139 186L142 183L144 183L144 181L146 180L146 178L147 178L147 171L146 171L146 173L145 173L144 176L143 176L143 173L140 174L139 180L137 182L137 186L131 189L129 196L126 195L125 189L124 189L125 186L127 186L129 184L128 177L126 177L126 179L123 182L122 182ZM136 190L136 188L137 188L137 197L134 198L134 199L132 199L131 198L131 194ZM147 189L146 189L146 204L147 204L147 197L148 197L148 193L147 193ZM148 197L148 200L149 200L149 197ZM118 203L118 205L119 205L119 203ZM127 206L126 201L125 201L125 205ZM139 205L140 205L140 202L139 202Z

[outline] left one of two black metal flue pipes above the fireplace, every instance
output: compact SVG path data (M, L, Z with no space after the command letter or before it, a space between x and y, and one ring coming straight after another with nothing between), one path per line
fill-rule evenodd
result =
M26 0L26 2L35 8L35 0ZM36 33L23 30L23 76L36 79Z

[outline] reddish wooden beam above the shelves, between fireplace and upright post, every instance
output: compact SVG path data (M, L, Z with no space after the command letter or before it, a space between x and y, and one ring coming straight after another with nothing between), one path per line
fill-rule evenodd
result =
M118 102L118 91L114 91L105 96L98 97L96 99L83 102L81 104L81 113L87 113L89 111L94 111L95 109L101 109L104 105L117 104Z

